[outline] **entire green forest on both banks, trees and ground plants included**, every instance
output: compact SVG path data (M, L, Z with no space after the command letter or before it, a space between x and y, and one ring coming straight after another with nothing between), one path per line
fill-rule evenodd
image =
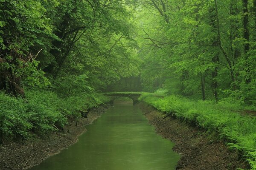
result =
M256 169L256 0L0 0L0 144L141 91Z

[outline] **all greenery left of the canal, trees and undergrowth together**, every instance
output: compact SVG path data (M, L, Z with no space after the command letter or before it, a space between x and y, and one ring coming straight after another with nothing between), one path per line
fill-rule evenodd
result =
M0 0L0 141L44 135L138 74L132 2Z

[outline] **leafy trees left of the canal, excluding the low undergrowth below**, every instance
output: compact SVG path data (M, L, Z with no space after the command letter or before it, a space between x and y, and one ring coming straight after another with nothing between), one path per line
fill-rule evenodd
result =
M43 87L48 78L86 80L99 89L137 74L127 6L103 0L2 0L0 88L23 94L23 85Z

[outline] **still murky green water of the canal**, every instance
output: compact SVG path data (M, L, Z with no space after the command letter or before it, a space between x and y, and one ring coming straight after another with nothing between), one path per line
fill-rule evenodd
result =
M136 105L115 104L79 142L29 170L175 170L174 144L148 125Z

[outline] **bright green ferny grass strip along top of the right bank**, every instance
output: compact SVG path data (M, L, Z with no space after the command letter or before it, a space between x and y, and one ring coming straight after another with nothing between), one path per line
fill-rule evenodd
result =
M178 119L194 122L196 125L217 132L227 141L230 149L238 150L256 170L256 117L241 115L243 106L237 102L193 101L181 96L159 96L145 93L140 100L158 111L170 113Z

